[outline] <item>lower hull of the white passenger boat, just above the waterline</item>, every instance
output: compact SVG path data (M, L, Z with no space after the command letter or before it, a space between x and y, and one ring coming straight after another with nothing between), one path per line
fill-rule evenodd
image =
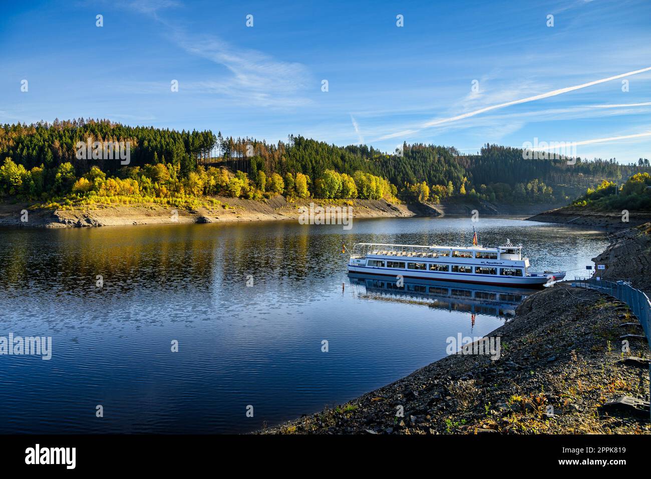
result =
M406 269L395 269L374 266L353 266L348 264L348 273L361 273L365 275L377 276L397 276L401 275L403 278L409 279L429 279L435 281L451 281L467 284L492 284L493 286L510 286L516 288L542 288L548 281L549 275L540 276L513 276L513 277L478 277L477 275L467 273L439 273L436 271L413 271ZM552 281L560 281L564 277L564 273L556 273L558 277L554 277ZM550 275L554 275L551 273Z

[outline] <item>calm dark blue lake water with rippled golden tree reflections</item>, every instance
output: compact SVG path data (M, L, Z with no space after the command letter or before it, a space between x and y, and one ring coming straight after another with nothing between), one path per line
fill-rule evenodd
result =
M348 278L341 243L467 245L473 225L568 279L608 244L468 218L2 229L0 336L51 336L52 357L0 355L0 433L239 433L395 381L444 357L449 336L510 320L521 298L446 302Z

